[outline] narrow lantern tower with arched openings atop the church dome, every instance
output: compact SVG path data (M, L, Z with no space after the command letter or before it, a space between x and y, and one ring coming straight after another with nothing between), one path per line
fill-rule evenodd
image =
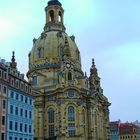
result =
M46 12L46 24L44 31L59 30L65 31L63 17L64 9L62 4L58 0L50 0L47 7L45 8Z

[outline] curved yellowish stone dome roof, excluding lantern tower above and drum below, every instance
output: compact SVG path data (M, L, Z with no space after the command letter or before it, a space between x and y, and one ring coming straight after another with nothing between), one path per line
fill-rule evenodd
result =
M80 52L74 36L69 37L62 31L50 31L42 33L33 41L33 48L29 54L29 71L39 67L57 66L63 59L70 60L81 69Z

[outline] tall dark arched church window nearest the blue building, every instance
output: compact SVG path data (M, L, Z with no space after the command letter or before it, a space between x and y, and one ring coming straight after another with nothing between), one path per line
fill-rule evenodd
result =
M55 115L54 115L54 109L50 108L48 110L48 129L49 129L49 137L54 137L54 121L55 120Z

